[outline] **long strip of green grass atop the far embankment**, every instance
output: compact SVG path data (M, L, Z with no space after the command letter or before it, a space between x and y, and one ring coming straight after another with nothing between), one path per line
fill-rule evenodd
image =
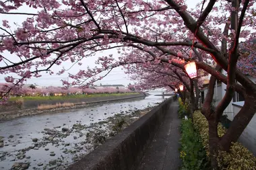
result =
M11 97L9 101L17 101L18 99L28 100L54 100L54 99L81 99L87 97L104 97L104 96L120 96L120 95L131 95L139 93L94 93L90 95L62 95L62 96L24 96L24 97Z

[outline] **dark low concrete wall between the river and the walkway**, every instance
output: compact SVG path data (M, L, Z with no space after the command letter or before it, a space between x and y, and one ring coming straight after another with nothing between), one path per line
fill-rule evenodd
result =
M166 99L123 132L107 140L96 150L66 170L134 170L143 157L156 130L164 120L173 97Z

